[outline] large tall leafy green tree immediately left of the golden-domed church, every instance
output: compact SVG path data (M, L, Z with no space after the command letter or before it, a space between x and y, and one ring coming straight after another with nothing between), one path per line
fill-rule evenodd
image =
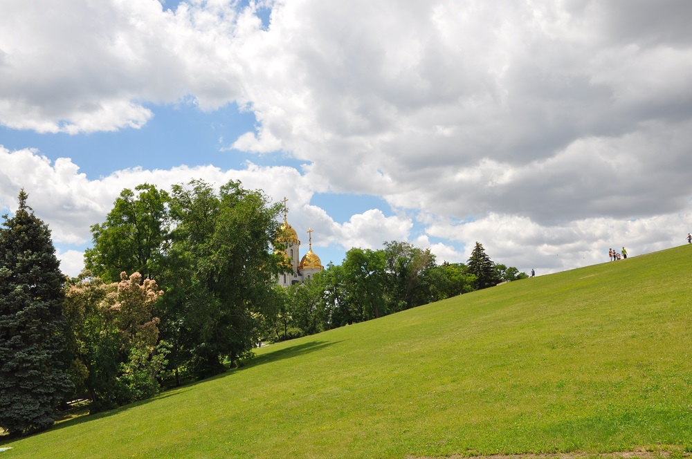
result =
M218 195L205 182L190 185L172 191L175 229L163 284L170 301L162 307L175 324L167 328L174 353L205 377L223 371L224 358L239 362L260 339L258 321L275 300L280 257L272 244L281 206L233 180Z

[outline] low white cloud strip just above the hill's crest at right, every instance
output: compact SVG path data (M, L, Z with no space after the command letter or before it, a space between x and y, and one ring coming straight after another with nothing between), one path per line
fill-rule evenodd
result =
M692 203L684 212L623 220L585 218L561 225L540 225L525 216L488 214L476 221L439 221L431 236L464 243L462 262L480 242L495 263L540 274L608 261L608 249L626 247L630 256L682 245L692 227Z

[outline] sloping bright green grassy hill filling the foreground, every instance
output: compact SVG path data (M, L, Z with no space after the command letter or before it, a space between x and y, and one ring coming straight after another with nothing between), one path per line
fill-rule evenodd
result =
M0 458L692 450L692 246L266 346Z

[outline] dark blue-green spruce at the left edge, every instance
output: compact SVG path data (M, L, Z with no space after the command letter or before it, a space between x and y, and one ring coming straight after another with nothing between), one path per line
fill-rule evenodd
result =
M0 227L0 426L10 435L50 427L71 391L62 281L48 226L26 205Z

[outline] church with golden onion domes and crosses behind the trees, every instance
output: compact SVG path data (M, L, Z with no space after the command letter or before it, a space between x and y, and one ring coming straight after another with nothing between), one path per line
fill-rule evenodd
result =
M325 269L325 267L322 266L320 257L312 251L312 228L308 228L307 230L309 236L309 250L302 259L300 258L300 240L298 240L298 234L286 220L286 214L288 214L286 201L287 199L284 198L284 223L280 227L280 236L276 239L277 251L280 250L279 247L285 247L283 253L286 259L286 272L280 273L277 277L277 283L284 288L294 283L303 283L311 279L316 273Z

